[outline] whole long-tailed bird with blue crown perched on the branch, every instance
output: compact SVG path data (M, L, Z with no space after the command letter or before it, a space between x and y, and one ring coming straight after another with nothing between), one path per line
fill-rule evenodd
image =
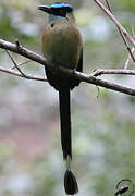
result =
M76 26L73 7L56 2L51 5L39 5L48 14L48 23L42 34L42 54L53 66L63 66L83 72L83 40ZM72 127L71 127L71 90L78 86L78 78L54 73L45 66L49 84L59 91L61 146L66 163L64 189L68 195L78 193L78 185L72 172Z

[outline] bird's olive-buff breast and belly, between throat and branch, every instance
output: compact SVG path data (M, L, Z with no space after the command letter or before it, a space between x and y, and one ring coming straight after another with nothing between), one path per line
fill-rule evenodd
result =
M42 52L54 65L74 69L81 56L82 37L78 29L64 20L47 25L42 35Z

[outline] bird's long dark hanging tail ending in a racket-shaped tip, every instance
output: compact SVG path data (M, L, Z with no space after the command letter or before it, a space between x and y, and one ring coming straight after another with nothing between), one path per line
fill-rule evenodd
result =
M74 174L71 171L72 160L72 137L71 137L71 107L70 88L63 87L59 90L60 119L61 119L61 145L63 158L66 161L66 172L64 174L64 188L68 195L75 195L78 186Z

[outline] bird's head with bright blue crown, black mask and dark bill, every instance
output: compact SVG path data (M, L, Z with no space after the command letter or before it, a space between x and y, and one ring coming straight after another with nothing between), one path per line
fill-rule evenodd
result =
M52 5L39 5L39 10L47 12L48 14L53 14L56 16L66 17L68 13L72 13L73 8L71 4L66 3L53 3Z

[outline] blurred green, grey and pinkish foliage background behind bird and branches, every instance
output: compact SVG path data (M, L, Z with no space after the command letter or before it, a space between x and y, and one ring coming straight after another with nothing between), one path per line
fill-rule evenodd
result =
M47 15L37 5L54 1L0 0L0 38L20 42L41 54ZM89 0L65 0L75 8L84 40L84 72L123 69L127 51L114 24ZM132 34L134 0L113 0L114 15ZM14 54L21 63L26 59ZM0 65L12 66L0 49ZM23 71L44 75L30 62ZM130 69L134 64L130 63ZM135 86L133 76L102 76ZM73 170L78 196L113 195L121 179L135 182L135 99L82 83L72 93ZM47 83L0 73L0 195L58 196L64 166L60 145L58 94Z

